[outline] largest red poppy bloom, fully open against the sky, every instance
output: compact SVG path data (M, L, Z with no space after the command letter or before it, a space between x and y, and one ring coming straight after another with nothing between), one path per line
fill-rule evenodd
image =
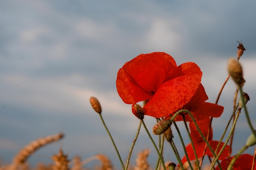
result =
M193 62L176 65L162 52L141 54L117 73L117 92L126 104L147 99L144 114L165 117L182 108L195 94L202 72Z

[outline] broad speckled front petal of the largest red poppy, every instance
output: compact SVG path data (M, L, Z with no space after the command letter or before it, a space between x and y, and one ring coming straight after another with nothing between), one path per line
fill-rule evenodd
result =
M183 75L164 82L144 106L145 115L165 117L182 108L193 97L200 81L198 77Z

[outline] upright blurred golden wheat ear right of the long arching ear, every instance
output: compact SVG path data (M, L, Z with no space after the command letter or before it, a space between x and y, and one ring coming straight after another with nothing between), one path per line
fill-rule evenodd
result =
M52 160L55 165L52 167L53 170L69 170L70 161L67 160L67 155L63 154L63 151L60 149L58 155L53 155Z

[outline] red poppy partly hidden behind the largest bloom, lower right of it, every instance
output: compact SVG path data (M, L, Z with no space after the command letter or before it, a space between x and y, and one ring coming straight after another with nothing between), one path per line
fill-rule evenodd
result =
M217 104L204 102L207 99L208 96L204 91L204 87L202 86L202 84L200 84L197 91L195 92L195 95L191 98L189 103L185 104L181 109L189 110L195 120L203 120L207 117L220 117L224 110L224 107ZM186 121L192 121L189 114L184 114ZM170 117L166 117L166 119L170 119ZM175 121L183 121L182 115L177 115L175 117Z

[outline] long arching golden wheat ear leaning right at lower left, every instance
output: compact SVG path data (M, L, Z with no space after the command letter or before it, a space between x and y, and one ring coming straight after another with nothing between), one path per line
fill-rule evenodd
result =
M18 152L15 157L13 158L13 164L20 165L22 163L25 163L27 158L32 155L36 150L41 148L42 146L45 146L47 144L50 144L54 141L58 141L59 139L62 139L64 137L63 133L58 133L56 135L43 137L40 139L37 139L35 141L30 142L27 146L22 148L20 152Z

